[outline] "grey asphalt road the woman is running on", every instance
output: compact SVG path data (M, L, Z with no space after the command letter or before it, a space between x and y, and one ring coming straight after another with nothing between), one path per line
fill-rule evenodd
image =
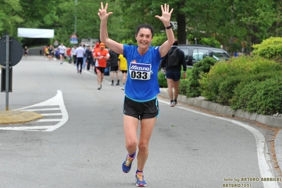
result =
M105 80L97 90L93 71L77 74L73 64L43 57L23 58L13 67L9 109L45 117L1 126L0 187L135 187L136 161L128 174L121 168L124 91L110 86L109 76ZM6 95L0 94L5 110ZM267 145L259 145L272 134L184 104L169 107L160 98L144 170L147 187L281 187L261 179L281 177Z

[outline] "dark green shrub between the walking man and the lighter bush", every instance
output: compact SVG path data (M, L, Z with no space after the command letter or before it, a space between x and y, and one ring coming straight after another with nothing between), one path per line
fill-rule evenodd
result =
M187 98L199 97L201 95L199 79L202 73L207 73L216 60L212 57L206 57L193 65L189 82L187 83Z

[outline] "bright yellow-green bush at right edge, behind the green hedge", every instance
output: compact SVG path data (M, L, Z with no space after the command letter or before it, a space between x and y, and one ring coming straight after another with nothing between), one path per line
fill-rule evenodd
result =
M270 37L262 41L261 44L252 47L254 48L253 54L276 61L282 59L282 37Z

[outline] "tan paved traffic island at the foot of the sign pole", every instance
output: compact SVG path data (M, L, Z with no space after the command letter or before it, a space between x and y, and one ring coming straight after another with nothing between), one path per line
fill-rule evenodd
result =
M16 124L30 122L42 118L42 114L20 110L0 111L0 124Z

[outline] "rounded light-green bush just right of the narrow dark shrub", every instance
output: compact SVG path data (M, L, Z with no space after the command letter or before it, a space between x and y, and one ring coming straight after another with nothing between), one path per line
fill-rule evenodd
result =
M258 79L260 74L274 74L279 70L282 70L281 64L259 56L241 56L226 62L219 61L212 66L208 74L202 74L199 81L201 95L207 100L230 105L234 89L239 83L253 81Z

